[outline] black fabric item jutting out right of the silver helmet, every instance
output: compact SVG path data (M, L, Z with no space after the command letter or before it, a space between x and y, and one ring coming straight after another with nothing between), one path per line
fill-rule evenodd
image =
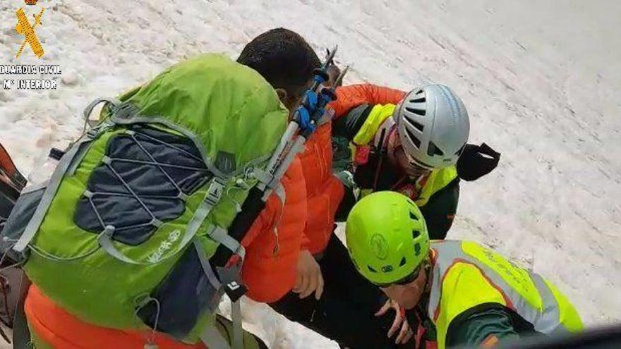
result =
M457 160L457 174L463 180L477 180L495 169L498 161L500 161L500 153L485 143L466 145L464 152Z

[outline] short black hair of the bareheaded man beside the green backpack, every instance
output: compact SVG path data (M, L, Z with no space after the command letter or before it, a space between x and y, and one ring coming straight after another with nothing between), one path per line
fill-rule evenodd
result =
M310 44L296 32L284 28L268 30L243 48L238 63L258 71L274 88L300 97L313 70L321 61Z

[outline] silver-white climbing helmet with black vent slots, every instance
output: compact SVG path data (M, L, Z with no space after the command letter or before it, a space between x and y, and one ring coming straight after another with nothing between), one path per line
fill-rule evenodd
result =
M407 157L426 169L456 164L468 141L468 111L462 99L444 85L411 90L392 117Z

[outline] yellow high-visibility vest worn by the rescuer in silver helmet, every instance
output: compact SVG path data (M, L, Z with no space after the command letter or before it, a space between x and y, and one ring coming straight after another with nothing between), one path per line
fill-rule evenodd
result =
M375 146L380 147L381 145L378 144L378 142L380 142L380 129L386 129L388 131L392 128L394 121L390 117L396 107L397 106L394 104L378 104L373 106L366 121L354 136L354 147L355 145L368 145L372 140L374 140ZM355 159L355 148L351 154L353 154ZM423 207L427 204L430 197L433 197L436 192L449 185L455 178L457 178L457 168L455 166L433 170L425 181L423 188L416 188L418 195L416 197L411 197L411 199L416 202L418 207ZM399 191L399 188L394 189ZM361 197L365 197L371 192L373 192L373 190L363 188L361 190Z

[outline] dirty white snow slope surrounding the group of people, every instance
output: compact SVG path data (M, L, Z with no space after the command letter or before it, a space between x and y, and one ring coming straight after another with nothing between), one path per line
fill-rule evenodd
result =
M41 0L41 61L28 48L14 58L20 6L0 2L0 64L62 68L58 90L0 90L0 141L23 172L78 135L95 97L288 27L317 51L339 44L338 60L353 64L346 83L453 87L471 140L502 159L462 185L450 236L548 276L588 325L621 320L620 1ZM261 305L245 309L272 348L336 348Z

